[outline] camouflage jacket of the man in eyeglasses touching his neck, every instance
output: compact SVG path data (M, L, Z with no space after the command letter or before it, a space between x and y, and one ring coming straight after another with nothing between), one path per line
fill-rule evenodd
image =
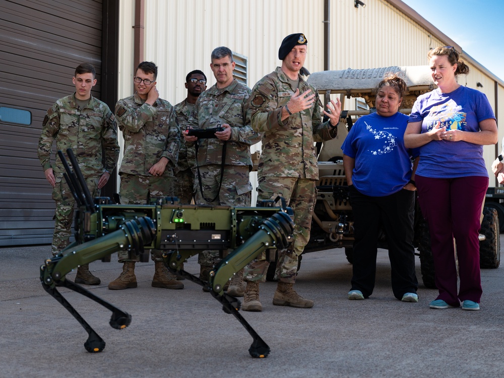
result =
M168 164L163 176L173 176L180 145L180 130L173 106L160 98L151 106L135 93L117 102L115 117L124 137L124 156L119 172L148 176L149 169L165 157Z

